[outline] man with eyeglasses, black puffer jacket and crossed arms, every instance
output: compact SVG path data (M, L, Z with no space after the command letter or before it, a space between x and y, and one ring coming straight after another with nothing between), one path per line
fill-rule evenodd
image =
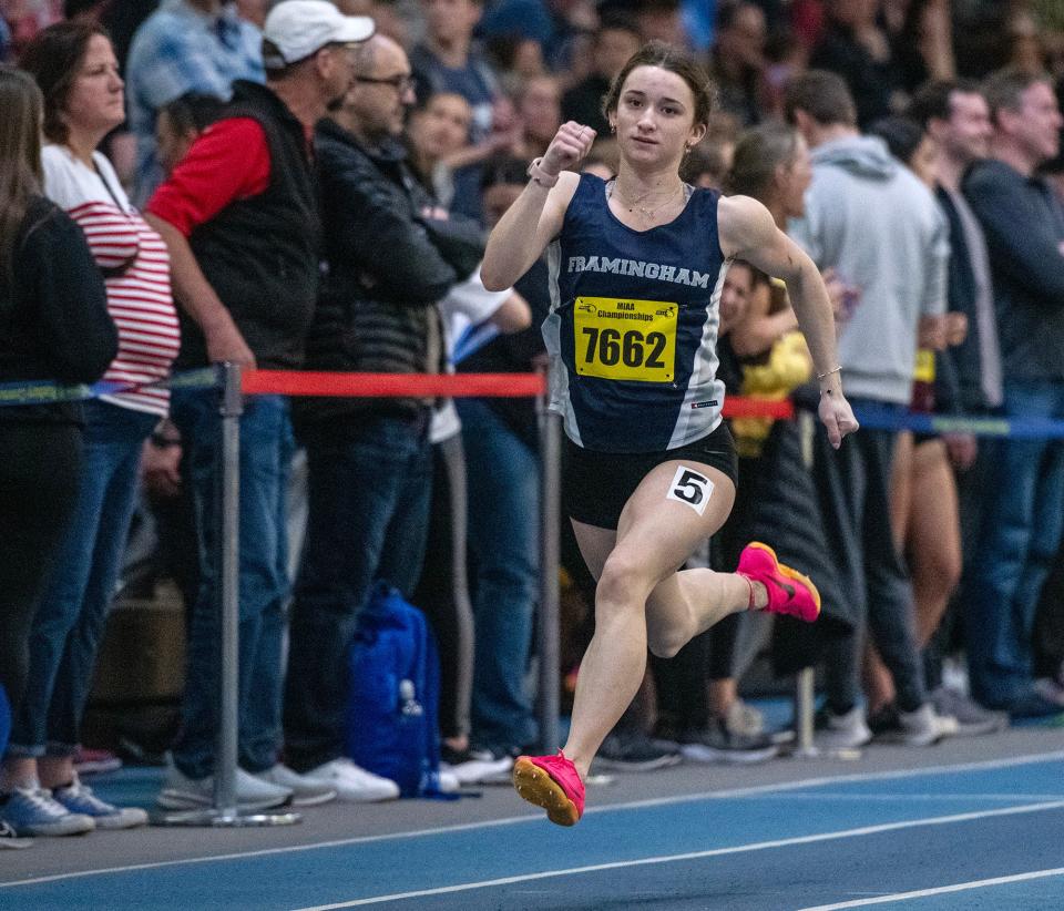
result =
M479 226L440 218L399 139L415 102L402 48L376 35L355 52L350 91L315 135L321 193L321 294L311 370L438 373L436 303L477 267ZM291 611L285 755L341 800L381 799L345 753L347 649L370 586L409 596L421 572L432 483L431 399L304 399L307 542ZM379 781L380 779L377 779Z

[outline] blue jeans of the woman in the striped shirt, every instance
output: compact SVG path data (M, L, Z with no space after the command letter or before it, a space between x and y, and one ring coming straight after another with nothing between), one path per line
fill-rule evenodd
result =
M24 695L8 756L72 756L114 597L144 440L157 414L85 403L78 499L30 631Z

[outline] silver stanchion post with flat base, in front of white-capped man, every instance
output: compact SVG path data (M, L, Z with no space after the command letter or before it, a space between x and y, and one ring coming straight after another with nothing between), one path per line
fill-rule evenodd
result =
M241 366L218 366L222 382L222 484L216 514L221 516L217 565L219 567L222 667L218 675L218 730L214 757L214 807L208 810L166 813L152 821L160 826L212 826L241 828L290 826L300 821L293 812L239 811L236 796L237 735L239 729L239 623L241 623Z

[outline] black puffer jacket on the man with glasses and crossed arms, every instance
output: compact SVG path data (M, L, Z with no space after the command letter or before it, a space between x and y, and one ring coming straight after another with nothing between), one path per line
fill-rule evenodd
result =
M422 212L432 199L401 145L366 149L334 121L318 124L326 276L307 338L309 370L438 373L443 342L436 303L483 256L479 226ZM419 399L306 399L307 422L367 411L417 414Z

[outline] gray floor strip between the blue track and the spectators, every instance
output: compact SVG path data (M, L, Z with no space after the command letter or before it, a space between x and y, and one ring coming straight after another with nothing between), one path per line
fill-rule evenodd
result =
M811 778L876 771L927 768L970 761L1012 759L1064 750L1064 729L1014 728L991 737L948 740L937 747L915 749L879 746L859 759L776 759L753 767L682 765L641 775L618 774L612 780L589 787L589 812L596 807L683 797L685 795L778 785ZM137 772L124 771L124 787L136 787ZM156 770L145 770L142 792L154 786ZM131 784L130 779L134 779ZM113 785L98 785L109 794ZM1062 782L1064 792L1064 782ZM393 835L423 829L463 826L494 819L526 816L533 811L509 787L487 787L479 797L458 801L402 800L376 806L332 803L304 811L303 822L275 829L173 829L147 828L125 832L94 832L64 839L38 839L23 851L0 852L0 882L57 873L158 863L188 858L290 849L323 842ZM0 907L3 905L0 893Z

